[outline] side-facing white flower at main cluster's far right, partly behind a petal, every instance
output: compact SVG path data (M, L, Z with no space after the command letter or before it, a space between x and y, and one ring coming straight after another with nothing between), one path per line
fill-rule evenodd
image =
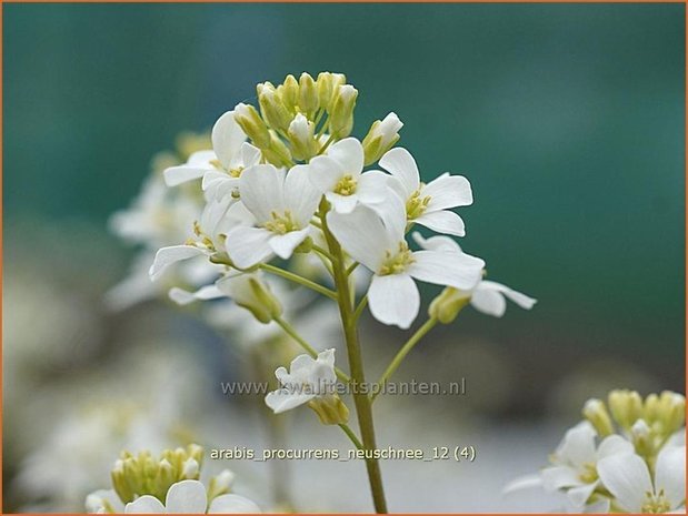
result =
M413 233L413 240L423 249L442 252L461 252L460 245L449 236L430 236L423 239L418 232ZM507 310L507 299L519 305L521 308L530 310L537 300L509 289L501 283L482 280L473 289L462 292L462 295L470 296L470 304L478 312L482 312L495 317L501 317Z

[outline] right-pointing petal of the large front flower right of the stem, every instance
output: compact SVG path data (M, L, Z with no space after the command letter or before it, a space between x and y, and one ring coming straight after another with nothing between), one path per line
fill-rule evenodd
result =
M411 276L465 291L478 284L485 266L482 260L465 253L417 251L412 256L416 262L407 269Z

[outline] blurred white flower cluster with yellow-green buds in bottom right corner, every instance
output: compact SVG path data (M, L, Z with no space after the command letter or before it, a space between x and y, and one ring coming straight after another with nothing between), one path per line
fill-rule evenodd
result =
M569 510L671 513L686 507L686 398L665 391L645 399L612 391L589 399L585 421L569 429L551 465L511 483L566 494Z

